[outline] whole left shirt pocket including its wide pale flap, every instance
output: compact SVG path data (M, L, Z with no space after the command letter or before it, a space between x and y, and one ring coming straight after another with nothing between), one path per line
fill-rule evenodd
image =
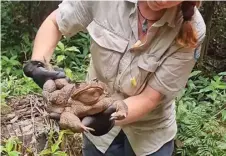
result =
M112 80L128 46L129 40L93 20L87 27L92 38L90 51L94 68L102 81Z

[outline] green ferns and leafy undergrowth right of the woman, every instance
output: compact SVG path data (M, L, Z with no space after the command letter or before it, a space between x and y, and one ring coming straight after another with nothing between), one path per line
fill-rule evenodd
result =
M177 99L176 153L181 156L226 155L226 73L213 78L194 71Z

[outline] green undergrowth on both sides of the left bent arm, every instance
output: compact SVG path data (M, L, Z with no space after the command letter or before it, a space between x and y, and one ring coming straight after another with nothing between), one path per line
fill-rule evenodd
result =
M23 74L23 64L30 59L33 45L26 35L23 38L24 40L18 45L19 49L12 49L11 46L2 49L1 104L5 104L6 98L12 96L40 93L41 91L32 79ZM20 60L21 55L26 56L22 61ZM71 80L84 80L89 57L89 35L79 33L70 41L63 38L58 43L51 63L64 68L66 75Z

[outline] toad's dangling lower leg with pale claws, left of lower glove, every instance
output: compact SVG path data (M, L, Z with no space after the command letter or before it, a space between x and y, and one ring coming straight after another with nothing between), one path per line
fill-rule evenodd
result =
M71 112L63 112L61 114L60 127L70 129L75 133L94 131L94 129L84 126L81 120Z

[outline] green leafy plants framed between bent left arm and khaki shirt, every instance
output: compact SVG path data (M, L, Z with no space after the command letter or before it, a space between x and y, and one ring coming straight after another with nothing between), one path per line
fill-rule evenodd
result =
M90 61L89 45L90 36L85 33L62 39L55 49L53 64L64 68L73 80L84 79Z

